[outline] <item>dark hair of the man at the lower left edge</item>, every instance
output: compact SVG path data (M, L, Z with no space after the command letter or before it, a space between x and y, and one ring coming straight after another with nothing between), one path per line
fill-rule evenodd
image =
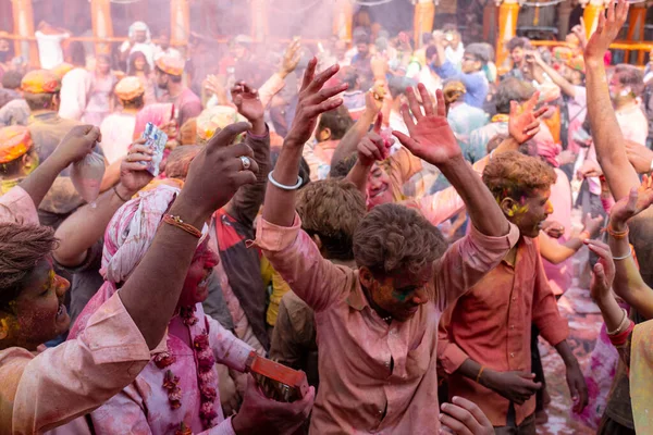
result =
M0 310L12 313L10 302L26 285L36 265L57 247L49 226L0 223Z

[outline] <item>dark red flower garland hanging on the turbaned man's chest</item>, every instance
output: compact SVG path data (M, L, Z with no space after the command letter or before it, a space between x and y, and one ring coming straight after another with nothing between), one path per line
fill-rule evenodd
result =
M180 309L180 318L186 326L194 326L197 324L198 319L195 315L196 310L196 306L182 307ZM199 415L204 428L209 430L218 424L218 422L214 421L218 418L218 412L214 410L218 390L215 388L217 380L213 373L215 358L209 346L209 335L206 330L202 328L201 334L195 336L193 339L193 350L195 351L195 357L197 359L197 378L201 399ZM153 358L155 364L161 370L172 365L175 360L175 357L168 351L158 353ZM163 388L168 391L168 401L170 402L170 408L173 410L178 409L182 406L182 389L178 386L178 383L180 377L175 376L171 370L168 370L163 377ZM182 422L180 428L175 432L175 435L192 435L192 431L184 422Z

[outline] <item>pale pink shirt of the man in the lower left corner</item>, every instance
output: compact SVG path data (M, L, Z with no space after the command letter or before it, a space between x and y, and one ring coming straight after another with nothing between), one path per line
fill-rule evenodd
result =
M160 349L150 352L116 294L77 339L40 352L0 350L0 434L42 433L91 411Z

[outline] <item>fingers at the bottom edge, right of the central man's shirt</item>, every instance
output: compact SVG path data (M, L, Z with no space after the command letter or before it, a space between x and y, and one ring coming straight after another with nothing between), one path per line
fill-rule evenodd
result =
M483 411L472 401L454 397L452 403L442 403L440 433L456 435L493 435L494 427Z

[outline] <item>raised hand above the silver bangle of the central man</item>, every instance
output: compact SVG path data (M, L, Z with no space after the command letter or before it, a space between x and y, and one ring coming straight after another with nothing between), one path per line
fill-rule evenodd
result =
M295 119L286 135L284 145L304 147L316 129L318 116L343 103L342 98L332 97L346 90L346 84L322 89L324 84L338 72L340 66L333 65L316 76L317 64L318 60L316 58L311 59L304 73Z

